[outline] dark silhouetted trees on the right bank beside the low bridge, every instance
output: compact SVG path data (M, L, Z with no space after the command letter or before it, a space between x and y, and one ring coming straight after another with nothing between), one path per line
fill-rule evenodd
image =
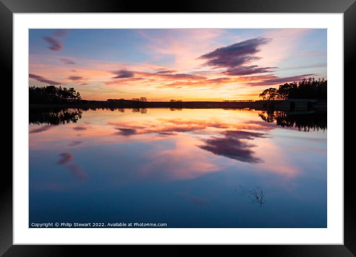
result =
M328 81L315 78L303 79L299 82L285 83L279 88L268 88L260 97L262 100L286 100L286 99L327 99Z

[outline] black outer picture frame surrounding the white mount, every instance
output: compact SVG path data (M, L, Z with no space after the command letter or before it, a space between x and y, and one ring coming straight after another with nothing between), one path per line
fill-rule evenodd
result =
M355 0L181 0L173 2L128 0L0 0L0 59L1 77L6 88L2 97L12 107L12 14L31 12L300 12L300 13L344 13L344 84L352 84L352 70L356 62L356 3ZM6 87L7 86L7 87ZM340 85L341 89L344 87ZM344 89L346 89L344 87ZM345 92L345 90L344 90ZM347 96L348 94L346 94ZM349 94L350 95L350 94ZM6 96L6 97L4 97ZM11 97L10 97L11 96ZM3 99L3 101L6 101ZM344 105L344 109L345 105ZM12 112L3 112L6 126L1 126L4 138L12 134ZM11 124L11 125L10 125ZM347 130L344 129L344 136ZM11 136L12 138L12 136ZM10 142L9 142L10 143ZM12 149L12 142L11 142ZM3 147L3 163L12 159L12 150ZM345 162L345 157L344 157ZM3 166L5 167L5 166ZM164 253L183 254L187 246L142 247L133 250L132 246L19 246L12 245L12 164L3 168L0 179L0 255L8 256L72 256L76 251L86 255L102 256L104 247L120 247L120 251L134 251L135 254ZM334 171L333 171L334 172ZM336 170L335 172L343 172ZM247 250L251 254L264 256L355 256L356 255L356 211L353 192L353 169L344 172L344 245L293 245L293 246L231 246L236 254ZM123 248L123 249L122 249ZM190 251L190 249L189 249ZM221 255L221 249L209 249L210 254ZM110 251L111 252L111 251ZM234 253L233 252L233 253ZM115 250L114 252L115 253ZM119 253L117 253L119 254Z

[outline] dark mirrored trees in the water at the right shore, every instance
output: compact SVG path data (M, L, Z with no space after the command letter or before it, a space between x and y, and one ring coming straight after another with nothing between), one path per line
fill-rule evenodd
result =
M299 131L327 129L327 115L320 113L288 114L286 112L262 111L259 116L265 122L276 122L276 125L297 128Z

